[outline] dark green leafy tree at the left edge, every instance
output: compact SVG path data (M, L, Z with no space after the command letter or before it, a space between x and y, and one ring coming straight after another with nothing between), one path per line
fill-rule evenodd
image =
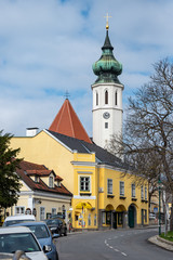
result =
M19 148L10 147L12 136L0 131L0 207L4 209L17 203L21 187L19 177L15 170L22 159L16 158Z

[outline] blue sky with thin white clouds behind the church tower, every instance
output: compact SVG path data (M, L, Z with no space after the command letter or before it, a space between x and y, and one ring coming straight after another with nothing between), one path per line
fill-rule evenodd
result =
M109 38L122 64L123 107L173 56L172 0L0 0L0 130L49 129L66 92L92 136L92 64Z

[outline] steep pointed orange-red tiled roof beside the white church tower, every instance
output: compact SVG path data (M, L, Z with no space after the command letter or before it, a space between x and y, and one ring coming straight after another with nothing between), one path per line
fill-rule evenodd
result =
M92 143L68 99L65 100L49 130Z

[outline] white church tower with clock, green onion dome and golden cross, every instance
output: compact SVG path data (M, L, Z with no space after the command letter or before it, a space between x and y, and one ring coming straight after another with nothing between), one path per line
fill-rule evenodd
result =
M122 134L122 91L123 84L118 76L122 73L122 65L115 58L108 36L102 48L102 56L92 66L97 76L92 84L93 91L93 142L106 148L112 134Z

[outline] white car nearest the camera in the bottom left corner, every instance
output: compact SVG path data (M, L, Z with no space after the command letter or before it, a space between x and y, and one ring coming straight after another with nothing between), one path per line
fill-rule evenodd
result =
M48 260L38 239L26 226L0 229L0 252L14 253L22 250L31 260Z

